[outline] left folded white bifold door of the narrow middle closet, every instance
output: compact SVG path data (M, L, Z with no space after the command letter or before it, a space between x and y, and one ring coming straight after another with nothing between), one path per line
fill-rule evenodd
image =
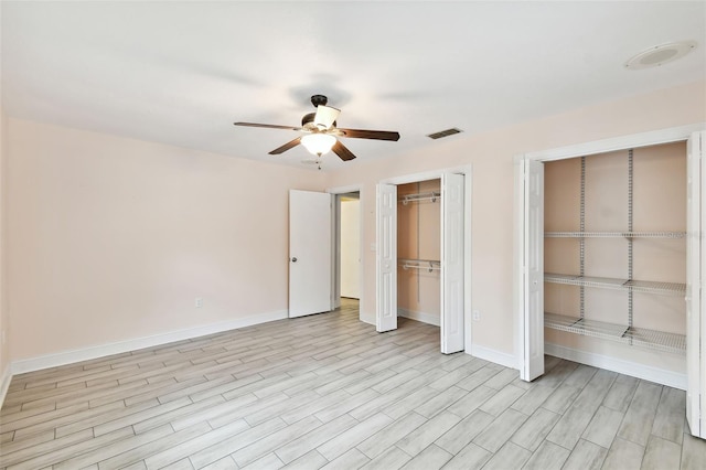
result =
M397 186L377 185L375 328L397 329Z

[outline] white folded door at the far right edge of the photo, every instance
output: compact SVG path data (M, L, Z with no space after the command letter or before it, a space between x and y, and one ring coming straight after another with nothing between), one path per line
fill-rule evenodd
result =
M695 132L687 141L686 160L686 420L694 436L706 438L706 429L702 421L703 402L700 396L706 389L706 373L702 356L700 341L706 330L702 321L702 266L700 250L702 234L704 233L702 220L702 188L706 188L703 178L704 153L706 146L706 132Z

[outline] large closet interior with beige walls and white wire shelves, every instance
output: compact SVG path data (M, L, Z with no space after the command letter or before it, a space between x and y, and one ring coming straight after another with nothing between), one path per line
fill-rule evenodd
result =
M545 349L686 372L686 143L544 163Z

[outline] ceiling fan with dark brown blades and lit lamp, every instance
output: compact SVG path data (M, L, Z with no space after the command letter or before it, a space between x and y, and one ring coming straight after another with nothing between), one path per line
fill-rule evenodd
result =
M315 113L309 113L301 118L301 126L278 126L272 124L257 122L233 122L235 126L264 127L268 129L288 129L302 132L303 136L290 140L281 147L270 151L269 154L280 154L289 149L302 145L311 153L317 156L317 163L321 170L321 156L333 151L341 160L353 160L355 156L351 152L338 137L349 137L353 139L375 139L375 140L399 140L399 132L391 132L387 130L365 130L365 129L343 129L336 127L335 119L341 113L340 109L327 106L329 98L323 95L313 95L311 104L317 108Z

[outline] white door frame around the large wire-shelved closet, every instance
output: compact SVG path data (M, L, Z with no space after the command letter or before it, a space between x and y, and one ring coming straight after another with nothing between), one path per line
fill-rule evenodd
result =
M596 140L591 142L584 142L567 147L560 147L555 149L542 150L536 152L530 152L524 154L518 154L514 157L514 172L515 172L515 207L514 207L514 216L515 216L515 234L514 234L514 254L513 254L513 266L514 266L514 275L513 275L513 287L514 287L514 301L513 308L515 309L515 355L517 360L517 368L522 371L528 371L531 368L530 356L525 349L525 343L528 339L535 334L533 329L544 329L544 319L542 318L542 324L533 324L527 317L527 311L525 309L525 291L524 291L524 281L525 281L525 247L524 247L524 228L523 228L523 218L525 213L525 191L521 189L524 188L524 169L525 164L522 162L527 160L538 161L538 162L549 162L556 160L564 160L569 158L577 158L582 156L590 156L596 153L606 153L611 151L624 150L630 148L640 148L648 146L657 146L662 143L671 143L678 141L687 141L694 132L703 131L706 129L706 122L693 124L687 126L672 127L667 129L660 129L654 131L634 133L629 136L621 136L616 138ZM702 193L702 200L705 194ZM706 204L702 201L702 214L706 211ZM702 215L702 221L704 216ZM703 222L702 222L703 223ZM542 252L544 249L542 248ZM704 263L704 257L702 256L702 263ZM702 279L703 281L704 279ZM688 282L688 279L687 279ZM703 302L700 309L700 318L702 318L702 341L704 341L704 307L706 307ZM541 345L542 351L544 350L544 344ZM687 351L688 354L688 351ZM704 357L702 356L700 360ZM688 372L687 372L688 373ZM700 382L700 394L706 392L706 374L702 374L703 376L699 378ZM528 377L521 377L523 380L530 380Z

